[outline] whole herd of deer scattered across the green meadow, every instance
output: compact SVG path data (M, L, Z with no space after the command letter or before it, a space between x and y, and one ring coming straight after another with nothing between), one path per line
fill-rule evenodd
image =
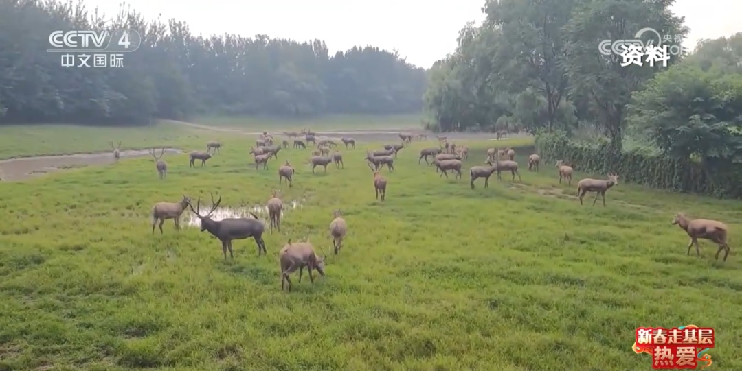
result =
M308 164L312 167L312 173L315 173L316 167L323 167L324 172L327 171L328 164L335 164L337 169L344 168L343 156L341 155L336 147L338 142L333 141L330 138L318 138L315 133L309 130L302 130L301 133L285 132L283 133L289 139L293 139L293 148L304 149L307 144L315 144L316 150L312 151L312 156L309 158ZM303 138L300 138L302 136ZM373 174L373 186L375 190L375 196L377 200L386 201L387 197L387 178L381 175L381 170L384 166L387 167L389 172L393 172L395 159L398 158L398 154L404 150L413 140L423 141L427 138L424 134L413 135L412 133L399 133L401 142L398 144L387 144L382 150L367 150L364 159L367 161L367 166ZM469 158L469 148L466 145L457 145L453 141L450 141L446 136L437 136L439 145L437 147L427 147L419 152L418 164L422 160L429 165L436 167L436 173L440 173L439 177L448 177L448 172L456 174L455 178L462 178L462 161ZM303 140L302 140L303 139ZM262 135L256 141L256 146L252 147L249 153L253 155L254 164L256 170L259 169L259 165L262 165L262 169L268 169L268 162L271 158L278 160L278 153L280 150L289 148L289 141L283 140L279 145L274 145L274 138L272 135L263 132ZM340 143L344 144L347 150L354 150L356 141L354 138L341 138ZM114 146L114 142L108 143L113 149L113 155L116 162L120 158L120 147L121 142ZM193 151L189 153L190 166L196 167L194 161L201 160L201 167L206 167L206 161L209 160L215 153L220 153L220 149L223 147L218 141L209 141L206 144L206 152ZM157 174L160 179L165 179L168 172L168 164L162 160L162 156L165 153L165 149L161 149L160 153L157 153L154 149L149 150L150 155L154 158L155 167ZM501 174L503 172L510 173L510 181L515 181L517 177L521 180L519 173L519 165L515 161L515 150L513 148L505 148L503 150L497 148L490 148L487 150L487 157L485 163L482 165L476 165L470 167L470 187L475 189L474 183L479 178L484 178L484 187L489 187L490 176L493 173L497 173L498 180L502 181ZM432 158L429 161L428 158ZM541 158L537 154L531 154L528 156L528 171L539 171L539 163ZM557 161L556 164L557 173L559 175L559 184L572 185L572 174L574 168L571 164L566 164L565 161ZM289 164L289 161L285 161L283 165L278 168L278 183L287 184L292 187L292 181L295 175L295 169ZM582 198L588 192L595 193L593 200L593 206L597 202L597 198L600 196L603 199L603 206L605 207L605 193L618 184L619 176L617 174L608 174L607 179L593 179L583 178L577 182L577 198L582 204ZM258 255L267 254L266 244L263 241L263 233L265 231L265 225L263 221L260 221L257 215L249 213L252 218L224 218L222 220L214 220L211 218L214 211L221 204L221 197L214 201L214 195L211 195L211 207L205 214L201 213L200 210L200 198L197 200L197 207L194 209L191 198L188 195L183 195L183 198L178 202L159 202L152 207L152 233L156 227L158 227L160 233L162 232L162 224L165 220L173 219L175 230L180 230L180 218L186 209L190 209L200 220L201 232L208 231L211 235L214 235L222 244L222 251L224 258L227 257L227 251L229 256L234 258L232 253L232 241L240 240L245 238L253 238L255 244L257 244ZM273 230L280 232L280 218L283 211L283 202L280 199L280 190L273 190L272 197L266 203L266 208L269 213L269 228L271 233ZM348 225L345 219L342 217L341 210L334 210L332 212L333 219L329 224L329 235L332 236L332 247L335 255L339 254L341 247L343 246L343 240L347 234ZM729 244L727 243L727 233L729 228L726 224L720 221L708 220L708 219L690 219L684 213L677 213L675 215L672 224L677 224L686 231L691 238L688 245L688 255L692 245L695 244L696 253L700 256L700 250L698 247L698 239L709 239L718 245L718 251L715 258L718 259L719 253L723 250L724 257L723 261L726 261L727 255L729 255ZM310 281L314 282L314 275L312 271L316 270L320 275L325 274L326 254L324 250L321 250L322 256L318 255L313 245L309 242L309 238L306 241L294 241L288 240L286 245L280 249L279 261L281 271L281 288L288 284L288 290L291 291L292 282L289 279L289 274L299 270L299 282L301 283L301 276L303 269L306 268L309 274Z

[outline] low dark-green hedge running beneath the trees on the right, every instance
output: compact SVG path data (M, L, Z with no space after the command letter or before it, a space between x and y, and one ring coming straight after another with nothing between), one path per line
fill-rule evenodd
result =
M742 164L723 158L699 163L637 151L614 153L606 141L580 144L563 133L539 134L536 148L545 161L563 160L586 173L618 173L623 181L663 190L742 198Z

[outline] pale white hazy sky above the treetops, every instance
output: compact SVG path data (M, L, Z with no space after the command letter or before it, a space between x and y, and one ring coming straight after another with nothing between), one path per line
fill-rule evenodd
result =
M114 15L111 0L84 0L89 10L99 7ZM456 37L467 21L482 21L484 0L283 0L283 1L174 1L127 0L146 19L185 21L198 35L235 33L307 41L326 41L331 53L367 44L400 56L420 67L430 67L456 48ZM691 28L686 47L698 39L716 39L742 31L742 1L677 0L676 15ZM647 25L651 26L651 25Z

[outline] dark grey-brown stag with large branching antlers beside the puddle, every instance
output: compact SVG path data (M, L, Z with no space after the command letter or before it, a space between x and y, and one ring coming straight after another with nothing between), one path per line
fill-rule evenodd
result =
M253 218L226 218L222 220L214 220L211 218L211 214L222 202L222 197L219 196L219 200L214 202L214 195L211 194L211 202L213 205L206 215L201 215L196 210L200 210L201 198L198 198L196 204L196 210L193 209L193 204L188 204L191 212L196 214L197 218L201 221L201 232L208 230L211 235L218 238L222 243L222 253L224 254L224 260L227 258L227 250L229 249L229 257L234 258L232 253L232 241L242 240L245 238L252 237L257 244L257 255L262 252L263 255L268 254L266 250L266 243L263 241L263 232L266 229L265 224L258 220L257 215L250 213Z

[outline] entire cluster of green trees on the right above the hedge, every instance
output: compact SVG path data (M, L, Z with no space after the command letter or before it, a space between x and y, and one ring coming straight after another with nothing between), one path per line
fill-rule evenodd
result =
M624 67L600 41L652 27L685 36L674 1L489 0L483 24L429 71L436 130L591 130L611 153L634 138L684 161L742 156L742 33L701 41L667 66ZM642 39L648 41L650 33ZM665 44L672 41L663 40ZM657 40L654 40L657 43ZM649 151L649 150L648 150Z

